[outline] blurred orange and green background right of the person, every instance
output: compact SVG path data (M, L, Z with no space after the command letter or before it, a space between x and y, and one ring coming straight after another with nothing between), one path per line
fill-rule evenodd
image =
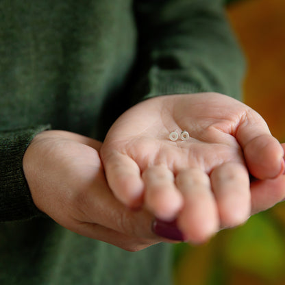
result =
M227 15L247 59L244 101L285 143L285 0L227 1ZM206 245L177 245L175 284L285 285L285 202Z

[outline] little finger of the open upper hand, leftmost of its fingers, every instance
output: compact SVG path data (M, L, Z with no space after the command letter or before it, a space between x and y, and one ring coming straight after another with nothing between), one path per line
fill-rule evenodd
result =
M144 184L136 162L122 153L113 153L103 161L110 188L119 201L131 208L141 206Z

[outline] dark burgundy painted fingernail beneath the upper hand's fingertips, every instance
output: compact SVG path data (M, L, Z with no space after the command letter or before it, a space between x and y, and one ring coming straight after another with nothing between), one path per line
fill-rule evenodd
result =
M185 241L182 232L178 229L176 225L176 220L162 221L160 219L155 219L153 221L152 230L155 234L157 234L158 236L162 236L163 238Z

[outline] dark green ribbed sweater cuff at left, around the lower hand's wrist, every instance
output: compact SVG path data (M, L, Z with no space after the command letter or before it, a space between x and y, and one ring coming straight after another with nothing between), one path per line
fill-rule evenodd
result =
M43 215L34 205L23 173L23 156L34 136L49 126L0 132L0 222Z

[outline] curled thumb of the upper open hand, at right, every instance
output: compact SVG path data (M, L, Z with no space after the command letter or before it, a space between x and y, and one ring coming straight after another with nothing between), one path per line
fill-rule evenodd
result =
M236 139L243 148L249 172L254 177L267 179L283 173L284 149L271 136L262 117L252 109L241 120Z

